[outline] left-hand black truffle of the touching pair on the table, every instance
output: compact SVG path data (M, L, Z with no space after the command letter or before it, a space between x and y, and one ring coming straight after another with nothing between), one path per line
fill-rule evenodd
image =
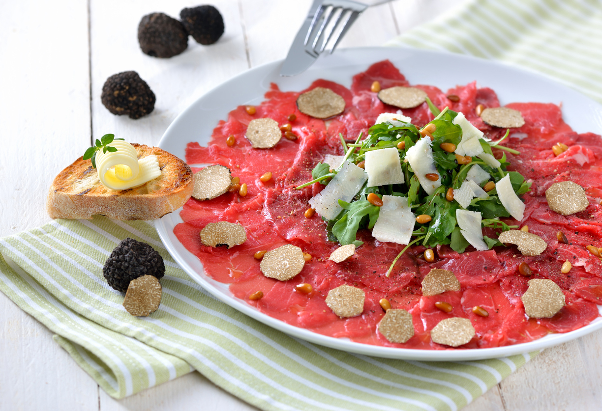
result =
M188 47L188 33L181 22L167 14L151 13L140 20L138 43L147 55L168 58Z

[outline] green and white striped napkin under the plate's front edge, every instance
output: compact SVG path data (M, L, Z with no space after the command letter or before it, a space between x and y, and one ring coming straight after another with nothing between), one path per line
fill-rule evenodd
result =
M166 263L161 305L146 318L129 315L102 276L126 237ZM143 221L55 220L1 239L0 254L0 290L115 398L195 369L265 410L458 410L530 359L399 361L292 338L209 296Z

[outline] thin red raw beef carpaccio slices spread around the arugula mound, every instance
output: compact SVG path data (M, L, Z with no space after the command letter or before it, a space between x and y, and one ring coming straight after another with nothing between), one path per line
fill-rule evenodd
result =
M256 106L255 114L248 114L244 106L234 109L228 120L220 121L214 129L208 147L196 142L187 146L189 164L221 164L247 184L247 195L226 193L208 201L191 198L184 205L182 224L174 232L182 244L202 262L206 275L230 284L234 296L255 306L259 311L288 324L303 327L323 335L346 337L352 341L379 346L411 349L450 349L432 342L430 330L439 321L450 317L471 320L476 336L459 348L474 349L498 347L532 341L550 332L569 332L585 326L598 317L597 304L602 297L602 266L600 258L586 249L588 245L602 245L602 145L600 136L578 134L562 120L559 106L545 103L511 103L507 107L518 110L526 124L511 129L504 143L520 151L508 155L509 171L518 171L533 181L530 192L523 195L526 203L524 219L517 222L503 219L507 224L523 227L547 242L544 253L536 257L521 255L516 246L495 247L489 251L475 251L469 247L458 254L448 246L437 246L435 262L427 263L424 247L414 246L397 261L387 278L389 264L403 249L396 243L381 243L371 237L370 231L358 232L364 245L343 263L329 261L338 244L327 240L326 223L320 216L305 217L308 200L323 186L315 183L296 190L312 179L311 171L326 154L343 154L339 133L347 141L355 141L358 134L374 124L382 112L397 108L380 102L370 90L374 81L382 88L408 86L405 77L389 61L373 64L366 72L353 78L350 89L334 82L317 80L306 90L283 92L273 84L265 94L265 101ZM296 99L300 93L315 87L330 88L346 102L343 114L329 120L319 120L299 112ZM489 138L503 136L505 129L485 124L475 113L477 105L486 108L500 105L494 90L479 88L476 82L458 86L447 92L430 85L412 85L426 91L439 109L463 112L468 120L485 132ZM447 96L455 95L459 101ZM457 100L457 99L453 99ZM294 121L287 120L294 114ZM424 103L403 114L412 123L423 126L433 116ZM244 137L247 124L254 118L272 118L280 125L291 123L298 138L282 138L273 148L255 149ZM231 147L226 139L233 135ZM552 147L558 142L568 150L555 156ZM496 156L500 154L496 153ZM259 177L272 172L273 178L262 182ZM582 185L589 199L589 207L574 215L562 216L552 212L545 198L545 190L557 181L571 180ZM199 232L210 222L239 222L246 228L247 241L230 249L203 246ZM484 230L486 233L488 229ZM562 231L567 243L559 242ZM259 270L259 261L253 255L258 251L293 244L312 256L302 272L289 281L265 278ZM472 250L472 251L471 251ZM525 261L533 271L529 278L520 275L518 266ZM573 268L561 273L561 266L569 261ZM453 271L461 284L461 291L445 291L438 296L421 294L421 282L432 268ZM565 294L566 305L552 318L527 318L520 297L527 290L530 278L551 279ZM296 291L295 285L312 285L309 294ZM352 318L340 318L324 301L329 290L348 284L365 291L364 311ZM259 300L249 296L262 291ZM377 324L385 312L379 300L387 298L393 308L403 308L412 314L415 335L405 344L393 344L377 331ZM451 312L436 308L435 302L452 305ZM481 306L488 317L473 314L474 306Z

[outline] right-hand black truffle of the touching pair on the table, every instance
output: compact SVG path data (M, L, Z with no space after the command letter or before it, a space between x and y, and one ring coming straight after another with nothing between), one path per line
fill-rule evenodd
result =
M188 34L205 46L215 43L224 33L222 14L212 5L183 8L180 19Z

